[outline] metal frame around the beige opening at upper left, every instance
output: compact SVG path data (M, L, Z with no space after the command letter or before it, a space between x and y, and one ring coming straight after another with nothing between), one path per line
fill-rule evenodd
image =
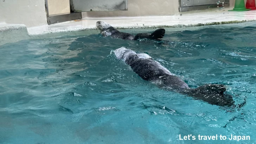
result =
M71 1L72 0L70 0L70 2ZM72 5L73 5L73 1L72 1ZM82 19L82 13L81 12L74 12L73 9L71 9L71 8L72 8L72 6L71 6L71 3L70 3L70 13L49 15L48 1L45 0L45 9L46 9L48 25L56 24L56 23L59 23L59 22Z

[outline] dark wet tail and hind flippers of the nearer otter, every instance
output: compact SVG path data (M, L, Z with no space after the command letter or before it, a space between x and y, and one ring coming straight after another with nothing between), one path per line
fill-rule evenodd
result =
M234 105L233 97L225 94L226 88L224 85L209 84L203 85L196 89L186 90L186 94L198 100L203 100L212 105L232 106Z

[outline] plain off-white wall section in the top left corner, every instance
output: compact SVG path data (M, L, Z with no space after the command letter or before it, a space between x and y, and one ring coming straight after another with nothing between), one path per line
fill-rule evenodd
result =
M27 27L47 25L44 0L0 0L0 21L25 24Z

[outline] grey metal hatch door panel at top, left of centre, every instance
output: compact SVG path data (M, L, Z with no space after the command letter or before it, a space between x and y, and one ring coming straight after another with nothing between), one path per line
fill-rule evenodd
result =
M127 0L70 0L73 12L126 11Z

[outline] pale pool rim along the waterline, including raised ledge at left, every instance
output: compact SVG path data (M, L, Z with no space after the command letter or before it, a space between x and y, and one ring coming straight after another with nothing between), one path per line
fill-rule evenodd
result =
M256 24L256 19L249 20L233 20L221 22L206 22L198 24L184 24L184 25L144 25L144 26L114 26L117 30L139 29L145 31L155 28L166 28L167 31L182 31L182 30L199 30L201 28L215 27L216 25L223 25L224 28L234 26L248 26ZM222 27L218 27L222 28ZM24 24L5 24L0 23L0 45L17 42L25 39L38 39L59 37L62 35L81 35L81 34L97 34L99 33L96 27L79 27L79 28L63 28L56 30L46 30L43 32L30 33ZM72 32L72 34L70 34Z

